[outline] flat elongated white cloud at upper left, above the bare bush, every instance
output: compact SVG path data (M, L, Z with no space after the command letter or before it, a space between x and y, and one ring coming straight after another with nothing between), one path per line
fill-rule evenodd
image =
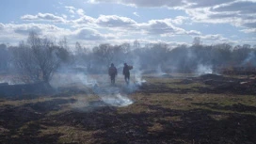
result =
M51 21L55 23L65 23L66 20L62 17L56 16L51 13L39 13L37 15L24 15L21 17L25 21Z

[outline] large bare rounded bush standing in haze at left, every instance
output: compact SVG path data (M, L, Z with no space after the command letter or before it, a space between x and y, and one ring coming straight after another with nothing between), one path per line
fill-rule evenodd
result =
M13 51L14 64L28 78L26 82L49 83L54 72L63 61L63 49L54 42L31 32L27 42L22 41Z

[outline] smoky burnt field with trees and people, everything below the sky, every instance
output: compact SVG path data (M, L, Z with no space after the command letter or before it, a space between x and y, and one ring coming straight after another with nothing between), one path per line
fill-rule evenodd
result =
M256 141L256 51L248 45L71 50L65 41L31 32L19 46L1 45L1 144Z

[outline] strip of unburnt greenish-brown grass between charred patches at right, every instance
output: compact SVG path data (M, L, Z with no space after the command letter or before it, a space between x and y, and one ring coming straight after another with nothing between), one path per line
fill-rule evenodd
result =
M200 94L200 93L151 93L150 95L136 93L132 95L136 104L129 106L130 112L150 112L149 105L161 105L162 107L179 110L207 109L220 112L232 112L232 106L235 104L244 104L245 106L255 106L256 97L252 95L225 95L225 94ZM229 106L231 107L229 109ZM256 112L235 111L241 114L253 114Z

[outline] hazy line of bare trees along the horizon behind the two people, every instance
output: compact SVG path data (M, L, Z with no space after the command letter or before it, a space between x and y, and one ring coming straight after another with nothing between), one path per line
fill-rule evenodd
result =
M31 32L27 40L18 46L0 44L0 72L16 72L26 75L29 82L49 82L55 72L79 69L90 73L107 73L114 63L118 69L123 63L133 65L141 72L200 72L207 69L229 69L234 67L256 67L256 49L249 44L232 46L228 43L202 45L195 39L191 46L178 45L169 48L167 43L149 43L141 46L104 43L86 48L79 42L74 50L68 40L40 38ZM200 70L202 69L202 70ZM204 70L203 70L204 69Z

